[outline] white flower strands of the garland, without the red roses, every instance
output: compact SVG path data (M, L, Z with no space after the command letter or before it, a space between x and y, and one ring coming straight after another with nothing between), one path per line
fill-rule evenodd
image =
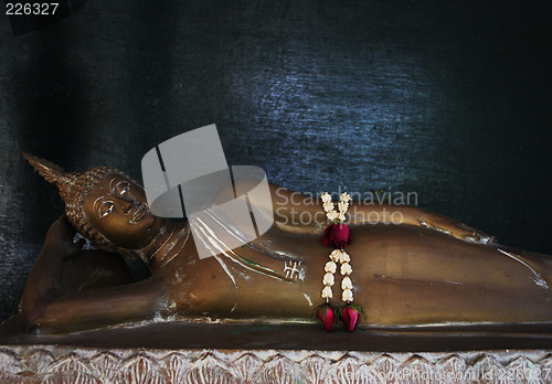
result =
M326 216L331 221L339 220L339 222L342 224L344 222L344 214L347 210L349 209L349 202L351 201L351 196L349 193L344 192L341 193L339 196L339 203L338 203L338 210L339 213L336 211L333 206L333 202L331 201L331 195L328 192L325 192L320 195L322 199L322 207L323 211L326 212ZM322 289L322 298L326 299L326 302L329 302L330 299L333 297L333 292L331 290L331 287L333 286L335 278L333 274L337 270L337 264L341 264L340 267L340 273L343 277L341 280L341 289L343 290L341 295L341 299L346 302L351 302L353 300L352 296L352 281L351 278L349 277L352 274L352 267L349 264L351 260L351 257L347 252L343 249L333 249L333 252L330 254L330 260L326 263L326 266L323 270L326 274L323 275L322 278L322 284L323 284L323 289Z

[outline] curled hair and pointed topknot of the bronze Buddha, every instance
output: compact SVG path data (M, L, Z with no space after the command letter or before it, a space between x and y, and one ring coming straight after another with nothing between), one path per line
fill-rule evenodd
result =
M109 173L125 175L125 173L113 167L95 167L84 173L65 172L63 168L53 162L26 152L22 154L40 175L57 186L65 203L65 215L70 223L95 246L112 252L118 250L117 246L89 223L84 213L84 198L99 183L104 175Z

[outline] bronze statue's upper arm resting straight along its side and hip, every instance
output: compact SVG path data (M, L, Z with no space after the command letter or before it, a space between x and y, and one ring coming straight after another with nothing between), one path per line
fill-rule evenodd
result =
M294 233L321 233L328 220L318 196L301 194L270 184L275 224ZM434 230L453 237L475 243L495 243L496 239L445 215L424 212L415 206L363 204L351 202L348 224L407 224Z

